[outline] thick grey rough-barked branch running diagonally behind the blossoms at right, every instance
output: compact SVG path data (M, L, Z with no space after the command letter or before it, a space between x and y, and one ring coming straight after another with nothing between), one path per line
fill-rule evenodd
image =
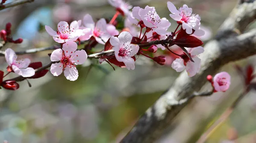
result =
M256 54L256 30L239 35L254 20L250 17L255 16L256 2L238 5L230 14L232 20L230 17L227 18L216 38L205 45L205 51L200 56L202 60L199 73L192 78L187 76L186 71L181 73L173 86L147 109L121 143L155 142L188 104L186 102L172 106L172 103L179 102L200 90L207 82L207 75L214 75L224 64ZM243 17L249 18L245 20Z

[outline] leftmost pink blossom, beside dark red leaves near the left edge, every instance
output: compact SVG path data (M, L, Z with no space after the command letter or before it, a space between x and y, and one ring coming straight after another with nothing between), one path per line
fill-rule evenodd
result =
M17 60L17 55L11 48L6 49L5 58L6 62L9 64L9 71L14 71L23 77L31 77L35 75L35 70L32 67L28 67L30 59L25 58Z

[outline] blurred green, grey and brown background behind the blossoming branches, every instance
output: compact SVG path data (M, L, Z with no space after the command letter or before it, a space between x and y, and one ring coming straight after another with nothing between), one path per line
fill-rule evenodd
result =
M13 0L7 0L6 3ZM216 34L218 27L236 6L237 0L170 0L177 7L187 4L193 13L201 16L206 35L200 37L205 43ZM177 24L169 17L166 0L130 0L133 6L154 6L160 17ZM91 14L95 20L108 20L115 8L107 0L35 0L21 6L0 11L0 29L12 23L12 34L23 38L22 44L7 44L2 50L15 51L56 45L44 25L53 29L59 21L80 20ZM122 20L122 17L118 17ZM250 28L254 28L254 24ZM80 47L82 48L82 47ZM174 47L175 48L175 47ZM102 50L98 45L96 51ZM18 56L33 62L50 62L48 53ZM161 52L160 52L161 53ZM160 54L158 53L158 54ZM175 56L166 53L166 65L160 66L140 56L135 70L116 67L88 60L78 67L79 79L68 81L47 73L41 79L20 82L16 91L0 90L0 142L9 143L118 143L150 107L161 93L172 86L179 75L172 69ZM231 87L226 93L214 93L210 97L195 98L167 127L157 143L195 143L243 90L241 76L234 65L245 67L256 57L224 66L232 76ZM6 72L7 63L0 57L0 70ZM14 73L8 78L15 77ZM209 89L207 84L202 91ZM256 143L256 96L250 91L227 121L212 131L207 143Z

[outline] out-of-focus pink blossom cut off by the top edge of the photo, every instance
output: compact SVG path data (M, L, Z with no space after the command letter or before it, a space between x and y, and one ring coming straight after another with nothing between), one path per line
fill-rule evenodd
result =
M125 3L122 0L108 0L108 3L111 6L121 10L125 15L129 15L130 14L129 10L132 8L132 6L129 5L128 3Z

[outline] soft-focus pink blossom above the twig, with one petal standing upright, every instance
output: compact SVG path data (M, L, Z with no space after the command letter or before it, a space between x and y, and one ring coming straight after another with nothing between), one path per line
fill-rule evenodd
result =
M86 14L83 19L83 26L85 28L90 28L92 31L91 35L96 39L100 44L105 45L105 42L111 37L107 31L107 22L104 18L100 19L98 22L93 21L93 17L90 14Z

